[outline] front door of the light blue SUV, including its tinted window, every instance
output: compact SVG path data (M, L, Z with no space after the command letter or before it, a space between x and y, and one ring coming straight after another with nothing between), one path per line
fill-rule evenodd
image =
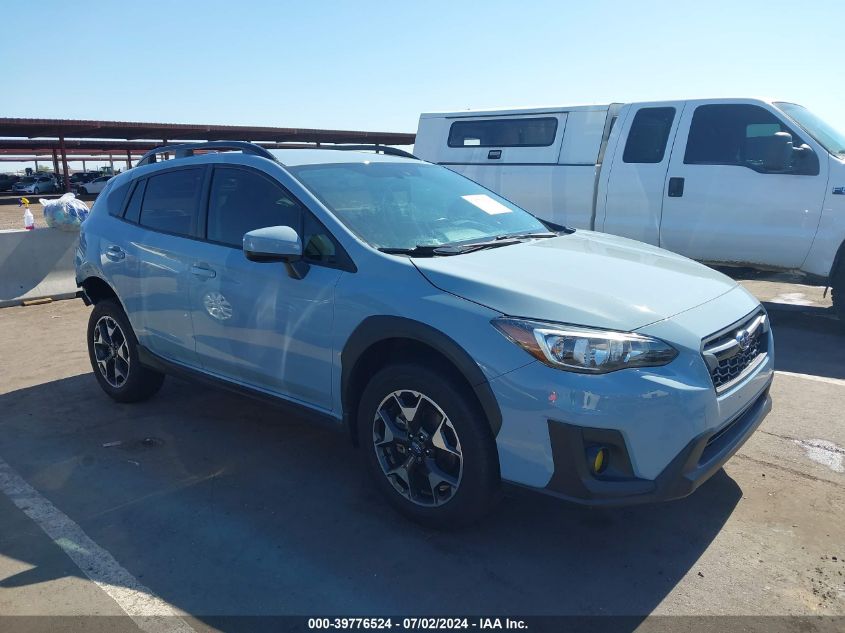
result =
M191 266L191 315L205 370L329 409L334 288L343 273L312 259L296 279L285 264L252 262L242 250L244 233L267 226L295 228L307 247L313 221L305 217L307 210L262 172L215 167L207 240Z

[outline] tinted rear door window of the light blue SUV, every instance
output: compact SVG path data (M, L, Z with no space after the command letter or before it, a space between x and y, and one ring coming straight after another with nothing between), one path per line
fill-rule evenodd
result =
M202 176L202 169L177 169L147 178L141 225L176 235L194 235Z

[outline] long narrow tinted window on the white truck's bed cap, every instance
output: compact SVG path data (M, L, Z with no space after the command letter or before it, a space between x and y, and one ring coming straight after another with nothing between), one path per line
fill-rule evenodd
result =
M557 119L489 119L455 121L449 147L547 147L555 142Z

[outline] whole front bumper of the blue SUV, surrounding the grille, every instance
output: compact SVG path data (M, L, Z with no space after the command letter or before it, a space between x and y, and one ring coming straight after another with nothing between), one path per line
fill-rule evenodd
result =
M535 361L490 381L502 412L496 436L502 479L592 504L672 499L691 493L747 440L771 408L774 341L762 361L717 392L702 341L759 302L737 288L641 331L670 341L662 367L587 375ZM718 435L718 437L717 437ZM609 451L592 474L595 450Z

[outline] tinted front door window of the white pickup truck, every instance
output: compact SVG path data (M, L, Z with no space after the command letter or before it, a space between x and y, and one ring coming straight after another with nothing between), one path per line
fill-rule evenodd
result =
M690 125L684 163L736 165L761 173L818 174L818 157L809 148L793 152L784 166L772 167L778 162L778 153L784 151L776 136L782 132L792 137L793 147L800 148L804 144L798 134L760 106L698 106Z

